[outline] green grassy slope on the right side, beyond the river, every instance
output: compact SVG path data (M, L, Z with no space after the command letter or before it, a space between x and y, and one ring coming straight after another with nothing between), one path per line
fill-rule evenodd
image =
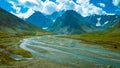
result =
M62 36L82 40L84 43L101 45L110 50L120 51L120 21L107 31L81 35Z

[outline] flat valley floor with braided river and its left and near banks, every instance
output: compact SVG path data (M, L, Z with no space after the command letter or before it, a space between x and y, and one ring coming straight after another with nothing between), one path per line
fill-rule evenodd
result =
M120 51L60 37L1 37L0 68L120 68Z

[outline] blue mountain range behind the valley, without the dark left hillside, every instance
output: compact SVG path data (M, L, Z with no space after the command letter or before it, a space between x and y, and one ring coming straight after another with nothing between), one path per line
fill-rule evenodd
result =
M57 34L80 34L93 31L102 31L111 28L120 20L118 15L91 15L82 17L73 10L54 12L44 15L35 12L27 22Z

